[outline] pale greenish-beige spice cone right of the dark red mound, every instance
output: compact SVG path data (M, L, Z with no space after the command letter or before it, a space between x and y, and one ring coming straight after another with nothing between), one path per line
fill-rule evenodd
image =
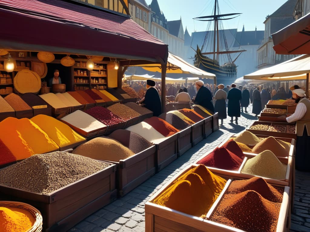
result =
M243 166L241 173L262 176L271 179L285 179L287 165L281 163L269 150L250 158Z

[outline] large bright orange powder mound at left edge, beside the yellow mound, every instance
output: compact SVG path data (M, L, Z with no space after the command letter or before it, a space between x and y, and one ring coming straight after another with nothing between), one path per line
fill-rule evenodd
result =
M6 131L0 139L11 150L17 160L26 159L33 154L59 150L58 145L28 118L6 118L0 122Z

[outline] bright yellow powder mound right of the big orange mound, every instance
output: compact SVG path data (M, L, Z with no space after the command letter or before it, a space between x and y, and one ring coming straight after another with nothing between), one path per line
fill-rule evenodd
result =
M85 141L85 138L73 131L67 124L59 120L39 114L30 119L37 124L59 147Z

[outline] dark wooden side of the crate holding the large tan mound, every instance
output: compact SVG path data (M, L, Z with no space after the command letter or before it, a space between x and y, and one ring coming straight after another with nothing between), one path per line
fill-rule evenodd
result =
M119 162L107 161L116 165L117 195L122 197L155 174L156 146L135 154Z

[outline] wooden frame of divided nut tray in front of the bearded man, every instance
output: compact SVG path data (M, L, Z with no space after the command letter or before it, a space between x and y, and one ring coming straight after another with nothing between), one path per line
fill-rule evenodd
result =
M291 138L296 140L296 134L293 133L286 133L286 132L277 132L277 131L268 131L266 130L257 130L257 129L250 129L252 126L255 126L257 124L263 124L270 126L295 126L295 123L286 123L286 122L264 122L264 121L255 121L253 122L246 130L252 132L255 135L268 135L273 137L281 137L281 138ZM285 129L286 131L286 129Z

